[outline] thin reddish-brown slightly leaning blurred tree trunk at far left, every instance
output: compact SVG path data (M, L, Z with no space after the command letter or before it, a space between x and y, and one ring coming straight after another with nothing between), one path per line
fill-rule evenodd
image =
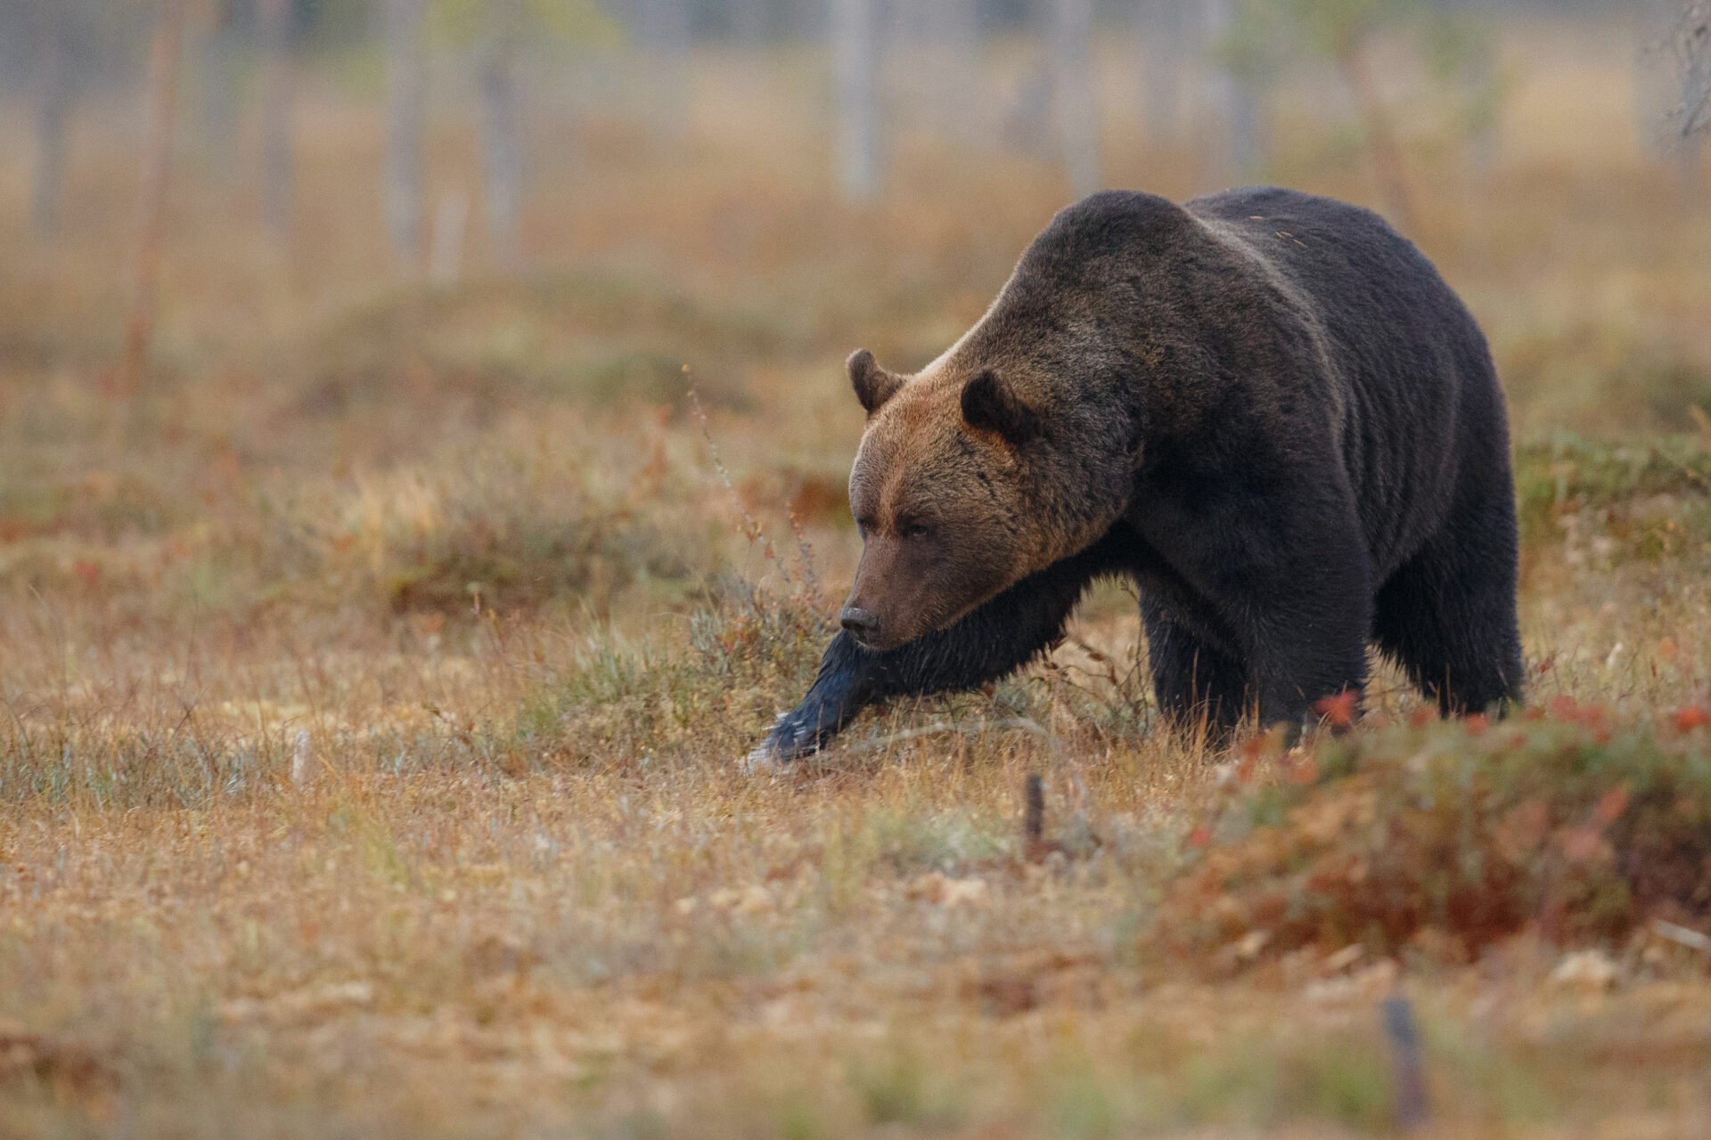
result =
M154 344L156 292L161 248L166 244L166 191L173 171L173 120L178 104L178 70L183 55L186 0L161 0L149 44L149 140L144 150L142 226L132 267L130 325L116 390L132 395L142 386Z

